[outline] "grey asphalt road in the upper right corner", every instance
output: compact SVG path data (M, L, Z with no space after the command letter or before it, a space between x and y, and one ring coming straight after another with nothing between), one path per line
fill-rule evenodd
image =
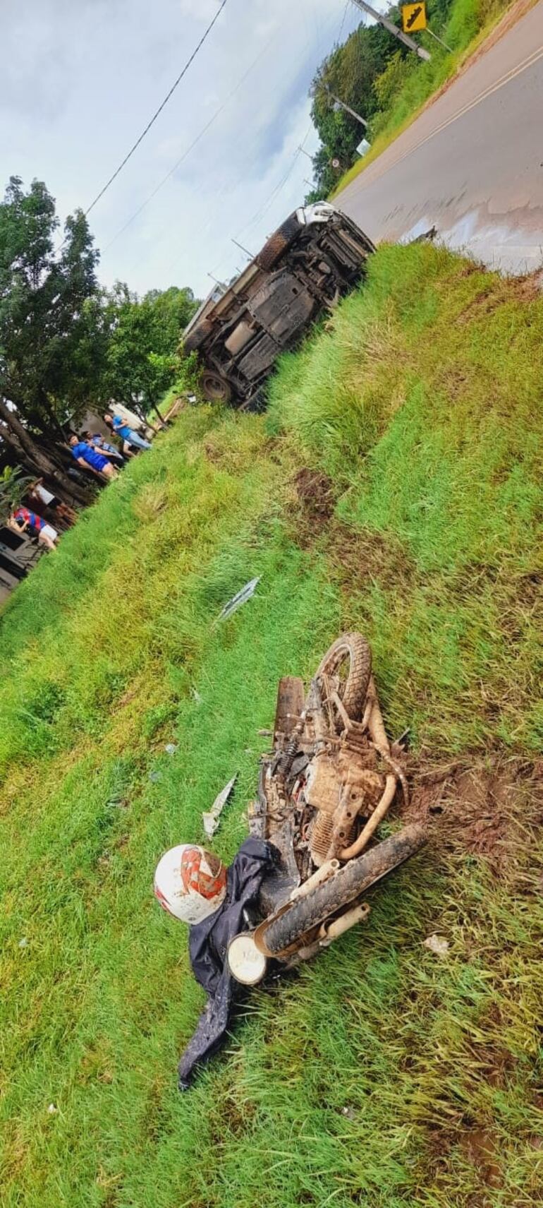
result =
M543 0L460 76L335 204L370 238L436 226L486 265L543 265Z

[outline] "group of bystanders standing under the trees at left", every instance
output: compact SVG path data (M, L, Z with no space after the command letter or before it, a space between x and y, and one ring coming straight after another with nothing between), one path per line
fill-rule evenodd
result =
M103 482L116 478L118 470L129 458L151 448L151 442L141 435L141 429L144 431L146 429L138 416L121 405L116 405L112 412L104 416L104 422L111 429L113 437L118 439L119 445L112 445L101 432L86 431L81 436L75 434L70 436L70 452L77 465ZM21 506L13 510L8 519L10 528L16 533L28 532L31 536L36 536L46 550L54 550L59 533L51 519L58 522L62 528L69 528L76 519L76 512L56 499L43 486L42 478L29 487L27 501L28 507Z

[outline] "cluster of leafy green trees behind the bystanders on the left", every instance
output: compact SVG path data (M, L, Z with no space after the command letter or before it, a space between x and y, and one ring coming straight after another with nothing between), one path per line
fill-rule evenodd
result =
M59 226L46 185L25 191L12 176L0 202L0 443L12 464L54 478L57 492L70 464L66 425L111 396L156 405L198 304L176 286L142 298L121 283L103 289L84 214L66 219L64 237Z

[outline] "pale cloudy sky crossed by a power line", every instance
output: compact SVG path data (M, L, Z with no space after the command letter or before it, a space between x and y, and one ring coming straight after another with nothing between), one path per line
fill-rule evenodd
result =
M37 178L62 220L87 209L218 7L220 0L4 4L0 186L10 175L27 186ZM228 280L245 263L232 238L258 251L308 192L311 164L297 151L303 145L311 155L319 145L308 88L360 19L351 0L227 0L157 122L89 214L105 285L123 280L140 294L191 285L203 297L209 273Z

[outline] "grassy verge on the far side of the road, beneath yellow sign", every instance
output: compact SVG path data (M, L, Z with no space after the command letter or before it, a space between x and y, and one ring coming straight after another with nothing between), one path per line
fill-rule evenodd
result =
M368 130L372 147L362 159L357 159L343 174L331 199L415 121L427 100L456 75L485 41L496 22L512 7L512 0L453 0L444 19L439 19L440 7L440 5L428 5L428 27L445 42L445 46L450 47L450 51L436 42L430 34L421 33L415 35L415 41L420 41L420 45L430 51L431 60L424 63L416 56L409 54L405 59L399 59L398 56L391 64L383 87L385 103L380 112L373 117Z

